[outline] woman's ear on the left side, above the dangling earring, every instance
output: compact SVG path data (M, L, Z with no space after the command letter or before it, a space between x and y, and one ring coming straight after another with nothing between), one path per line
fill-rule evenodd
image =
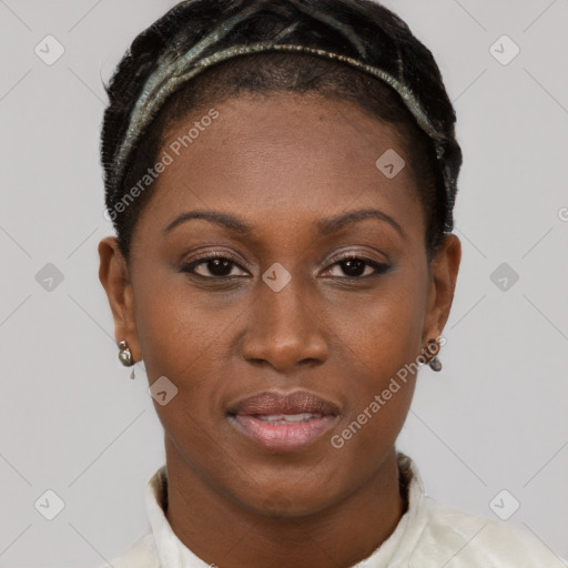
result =
M99 243L99 280L103 285L114 318L116 344L125 339L134 362L142 358L134 316L134 300L128 263L116 237L108 236Z

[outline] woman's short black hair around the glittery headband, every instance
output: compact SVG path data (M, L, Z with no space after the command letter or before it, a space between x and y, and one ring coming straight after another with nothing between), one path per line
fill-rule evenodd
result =
M178 45L185 43L183 49L190 49L196 39L210 33L220 21L251 6L257 6L257 12L254 18L245 21L246 24L231 32L230 45L248 43L251 37L262 37L267 31L274 33L275 26L280 31L290 26L291 21L297 21L298 10L306 10L304 0L190 0L176 4L135 38L109 85L105 85L110 102L102 125L101 159L108 211L112 211L128 189L135 185L146 174L148 168L156 163L164 136L189 115L195 115L241 93L316 93L355 103L373 118L395 126L404 151L410 158L409 166L425 215L426 253L428 260L432 260L445 232L453 229L455 200L455 191L448 195L444 185L442 164L436 156L433 140L419 128L402 97L381 79L347 63L311 53L264 51L241 54L217 62L183 83L166 99L143 132L128 159L125 173L119 184L120 191L114 190L116 153L134 104L146 79L156 69L160 55L174 42ZM317 7L338 21L349 22L352 29L362 34L358 38L362 43L365 41L364 34L366 41L369 41L368 36L373 37L373 33L375 38L382 33L393 39L396 49L388 54L385 48L382 57L386 57L394 69L400 69L397 53L399 58L398 45L404 45L404 64L409 68L406 83L410 83L428 118L444 134L444 166L454 180L457 179L462 151L455 139L455 111L430 51L413 36L403 20L373 0L318 0ZM306 13L302 18L307 21L302 30L308 34L311 44L356 57L354 47L346 44L345 36L333 36L328 27L324 28L324 36L321 20L310 18ZM306 40L302 42L305 44ZM352 42L357 44L357 38L352 39ZM294 38L286 38L286 43L294 43ZM149 184L143 193L113 219L118 245L126 262L130 261L136 222L152 195L154 183Z

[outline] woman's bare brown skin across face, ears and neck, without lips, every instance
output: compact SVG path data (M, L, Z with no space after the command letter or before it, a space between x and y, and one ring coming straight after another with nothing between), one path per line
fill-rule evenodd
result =
M348 567L369 556L404 513L395 440L415 375L342 448L331 444L446 324L460 243L447 235L428 264L425 219L410 156L394 128L354 103L317 94L250 94L220 116L160 175L136 224L130 267L114 237L100 242L100 280L134 361L149 382L178 395L155 410L164 427L166 518L199 557L221 568ZM203 113L205 114L205 113ZM164 149L200 115L171 130ZM406 161L387 179L375 161ZM239 234L206 220L166 227L192 210L229 213ZM375 209L321 234L316 222ZM197 253L233 263L222 283ZM355 275L341 252L387 263ZM262 274L281 263L280 292ZM210 280L206 280L206 278ZM213 278L217 278L214 281ZM282 454L251 442L227 419L230 404L265 390L306 389L336 404L333 428Z

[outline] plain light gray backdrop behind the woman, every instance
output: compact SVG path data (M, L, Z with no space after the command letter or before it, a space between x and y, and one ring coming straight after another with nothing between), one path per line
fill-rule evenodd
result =
M163 434L98 280L98 136L102 81L173 3L0 0L1 567L100 566L148 529ZM568 557L568 2L386 3L433 50L465 154L444 368L422 371L399 447L439 501L495 517L507 489L508 523ZM48 34L65 50L51 65ZM65 504L51 521L48 489Z

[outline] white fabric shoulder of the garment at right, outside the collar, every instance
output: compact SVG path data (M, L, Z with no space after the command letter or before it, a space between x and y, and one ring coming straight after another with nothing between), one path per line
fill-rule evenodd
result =
M414 560L436 556L447 568L541 568L564 566L528 530L447 507L424 497L426 523ZM420 558L418 558L422 555ZM445 564L444 564L445 562ZM409 566L415 566L410 561Z

